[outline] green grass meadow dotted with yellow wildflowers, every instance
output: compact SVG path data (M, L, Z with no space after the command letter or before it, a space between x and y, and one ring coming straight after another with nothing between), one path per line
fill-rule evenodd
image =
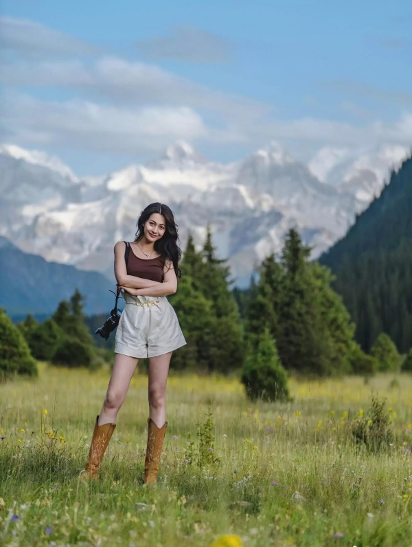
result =
M290 380L292 402L252 404L236 378L171 373L159 480L147 488L137 372L100 480L78 480L109 374L40 363L36 380L0 385L1 545L412 544L411 377ZM371 394L387 399L394 433L381 453L345 434Z

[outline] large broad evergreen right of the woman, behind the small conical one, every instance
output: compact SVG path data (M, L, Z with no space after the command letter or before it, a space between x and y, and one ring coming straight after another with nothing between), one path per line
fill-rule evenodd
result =
M308 261L310 248L291 229L279 262L265 259L249 302L248 339L268 327L284 367L321 376L350 372L354 325L330 288L327 268ZM255 344L253 345L253 339Z

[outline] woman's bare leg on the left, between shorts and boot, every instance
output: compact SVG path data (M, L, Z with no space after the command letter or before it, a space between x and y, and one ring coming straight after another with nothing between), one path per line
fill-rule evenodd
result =
M107 387L106 398L100 411L98 425L116 423L117 412L124 399L139 359L117 353Z

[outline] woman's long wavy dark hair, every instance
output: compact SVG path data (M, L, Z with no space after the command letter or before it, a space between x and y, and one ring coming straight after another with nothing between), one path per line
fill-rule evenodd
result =
M173 263L176 277L181 277L181 269L179 268L179 261L182 256L181 248L178 245L179 234L177 232L176 222L174 222L174 216L172 211L167 205L163 203L151 203L143 211L141 211L139 219L137 219L137 232L135 242L140 241L144 236L144 224L150 219L150 215L153 213L159 213L163 215L166 220L165 233L160 239L155 241L155 251L160 255L166 255Z

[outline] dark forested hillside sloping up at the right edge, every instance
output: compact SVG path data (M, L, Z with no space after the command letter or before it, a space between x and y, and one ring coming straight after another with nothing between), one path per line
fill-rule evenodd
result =
M319 261L336 275L364 350L380 332L401 352L412 347L412 157Z

